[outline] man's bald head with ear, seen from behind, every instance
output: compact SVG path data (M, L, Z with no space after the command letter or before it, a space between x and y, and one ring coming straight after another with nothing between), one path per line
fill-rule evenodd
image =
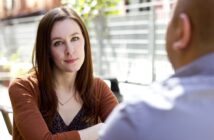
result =
M214 52L214 0L177 0L166 50L174 69Z

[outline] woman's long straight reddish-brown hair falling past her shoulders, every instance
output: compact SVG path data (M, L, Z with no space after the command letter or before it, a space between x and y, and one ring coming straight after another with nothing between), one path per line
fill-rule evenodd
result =
M41 92L39 101L40 111L49 127L51 127L53 116L57 111L58 102L53 83L54 63L50 54L50 36L53 25L64 19L72 19L76 21L82 30L82 34L85 39L85 59L82 67L77 72L75 88L83 100L84 107L87 108L87 110L91 110L91 114L89 115L96 114L96 97L92 90L93 68L88 31L83 21L74 10L64 6L55 8L47 12L39 23L32 57L33 69L36 73Z

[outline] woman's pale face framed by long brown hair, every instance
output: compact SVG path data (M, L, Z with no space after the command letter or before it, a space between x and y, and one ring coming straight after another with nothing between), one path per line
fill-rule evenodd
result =
M72 19L54 24L51 32L51 56L54 69L60 72L77 72L85 58L85 40L80 26Z

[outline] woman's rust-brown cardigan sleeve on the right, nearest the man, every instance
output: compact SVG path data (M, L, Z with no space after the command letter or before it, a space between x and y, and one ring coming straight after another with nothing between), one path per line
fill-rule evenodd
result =
M96 78L95 83L95 90L100 94L99 117L104 122L115 106L118 105L118 100L103 80Z

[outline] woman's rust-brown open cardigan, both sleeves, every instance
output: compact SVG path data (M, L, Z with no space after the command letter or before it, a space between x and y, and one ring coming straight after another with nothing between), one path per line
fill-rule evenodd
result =
M100 95L99 117L105 121L118 104L107 84L94 79L95 93ZM80 140L78 131L52 134L38 108L39 89L36 78L15 79L9 87L13 107L13 140Z

